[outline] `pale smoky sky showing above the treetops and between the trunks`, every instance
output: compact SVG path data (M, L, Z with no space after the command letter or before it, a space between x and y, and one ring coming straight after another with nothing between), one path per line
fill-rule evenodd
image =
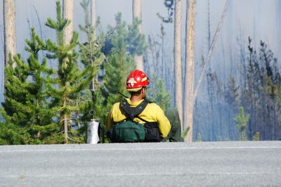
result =
M182 0L183 1L183 0ZM84 23L84 13L81 6L81 1L74 1L74 30L78 29L79 24ZM223 11L225 0L210 1L210 23L211 37L213 36L219 18ZM143 33L157 37L160 32L161 20L157 17L157 13L166 15L167 10L164 7L163 0L142 0L142 16L143 16ZM97 0L97 15L100 16L100 28L106 32L107 25L115 23L115 15L117 12L122 12L126 22L132 20L132 1L131 0ZM183 1L183 41L185 38L185 1ZM280 8L281 1L279 0L235 0L231 1L228 9L226 20L223 23L221 34L217 41L214 54L211 58L210 67L216 69L218 76L227 77L228 73L235 71L235 58L240 51L240 46L237 43L239 38L247 48L247 37L253 38L254 46L259 45L259 41L266 41L269 48L275 53L275 56L280 58ZM21 53L23 58L26 58L24 51L25 39L29 38L29 28L35 27L37 33L40 34L40 27L44 39L55 38L53 30L48 29L44 23L47 18L55 19L55 0L16 0L16 39L17 53ZM1 82L1 101L3 101L3 83L4 83L4 32L3 32L3 2L0 3L0 82ZM39 18L37 18L37 13ZM196 60L197 66L202 62L202 56L207 56L207 28L208 21L208 1L197 1L197 25L196 25ZM173 58L174 50L174 23L164 23L166 31L165 44L169 53L167 56ZM84 36L79 35L81 41ZM184 44L184 43L183 43ZM184 58L183 45L183 58ZM183 59L184 62L184 59ZM223 62L223 64L222 64ZM171 68L173 68L171 62ZM224 68L226 67L226 69ZM235 74L235 72L233 72ZM198 75L197 75L198 76ZM202 85L204 89L204 84ZM173 91L171 91L173 92Z

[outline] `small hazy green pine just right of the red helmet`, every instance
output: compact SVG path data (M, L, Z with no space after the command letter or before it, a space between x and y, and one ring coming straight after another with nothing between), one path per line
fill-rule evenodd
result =
M171 105L171 96L164 86L164 80L157 80L157 75L152 77L152 86L148 86L148 100L157 103L164 111Z

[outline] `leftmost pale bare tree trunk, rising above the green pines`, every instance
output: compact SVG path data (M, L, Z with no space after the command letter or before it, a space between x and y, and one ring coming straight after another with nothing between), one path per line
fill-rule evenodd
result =
M13 57L15 55L15 1L3 1L4 13L4 58L5 67L8 66L9 54ZM15 67L13 63L13 67Z

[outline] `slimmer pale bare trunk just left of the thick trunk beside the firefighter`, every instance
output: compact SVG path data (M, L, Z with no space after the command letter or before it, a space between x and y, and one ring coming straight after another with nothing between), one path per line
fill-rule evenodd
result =
M175 103L183 129L183 77L181 68L181 0L175 1L174 60L175 60Z

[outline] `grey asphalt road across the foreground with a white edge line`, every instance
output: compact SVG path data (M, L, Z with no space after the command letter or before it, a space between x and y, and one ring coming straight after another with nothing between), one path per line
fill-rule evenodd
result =
M0 186L281 186L281 141L0 146Z

